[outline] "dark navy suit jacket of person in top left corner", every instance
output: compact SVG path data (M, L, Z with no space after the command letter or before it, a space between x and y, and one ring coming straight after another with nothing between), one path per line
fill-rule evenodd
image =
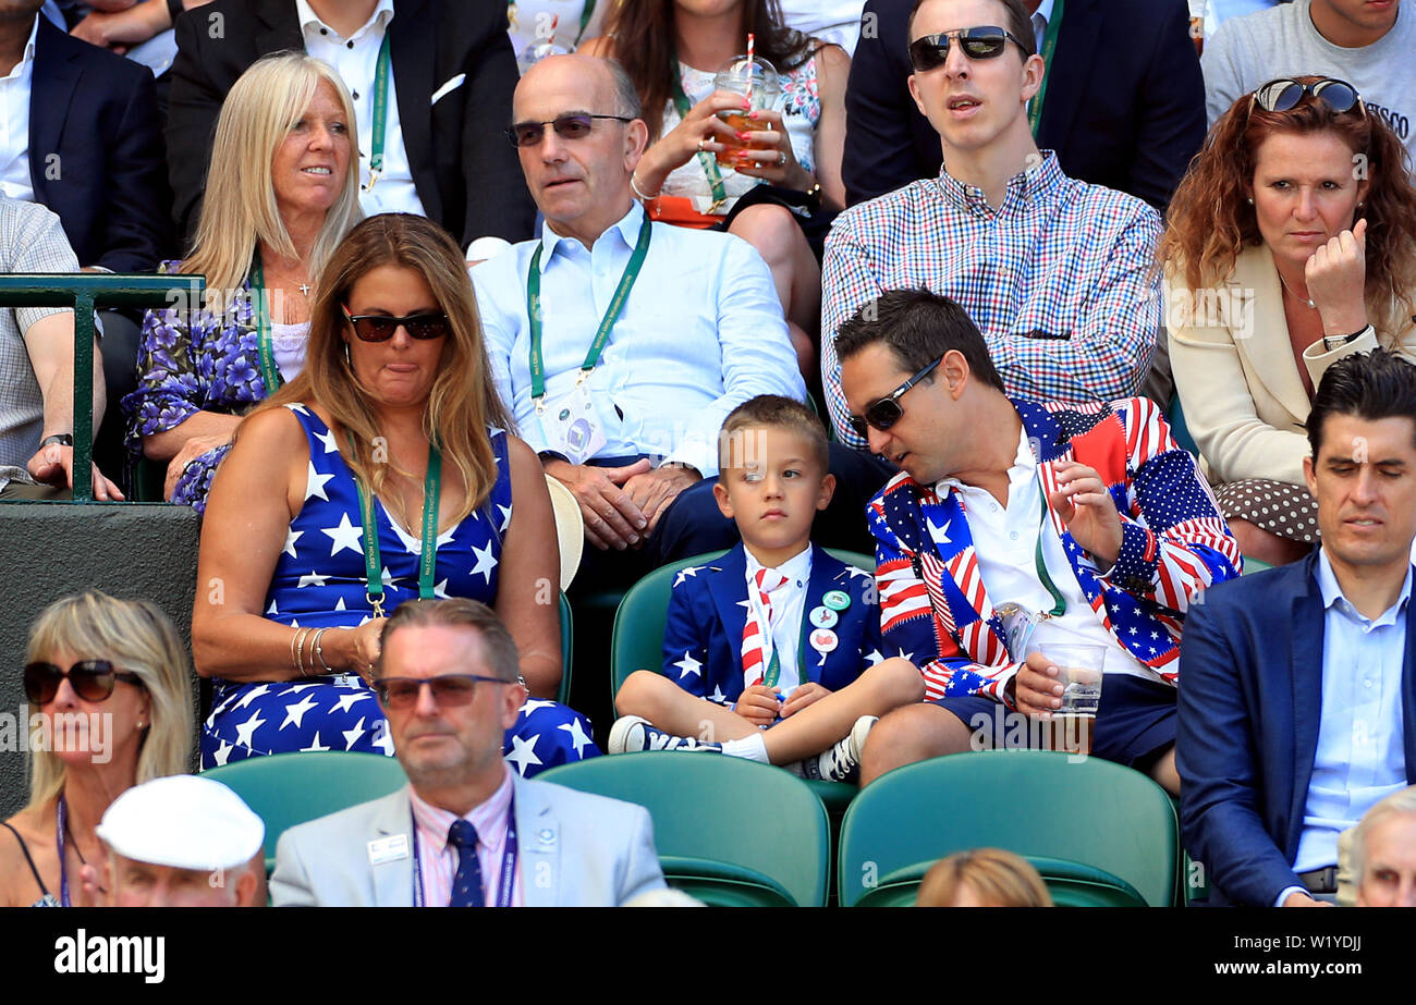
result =
M30 89L30 185L79 265L153 272L170 258L153 74L40 16Z

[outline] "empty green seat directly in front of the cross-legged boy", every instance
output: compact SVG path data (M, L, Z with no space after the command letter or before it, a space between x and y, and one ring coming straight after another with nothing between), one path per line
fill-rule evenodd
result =
M647 808L666 876L708 903L779 903L784 892L799 906L826 904L826 808L787 771L658 750L562 764L541 780Z

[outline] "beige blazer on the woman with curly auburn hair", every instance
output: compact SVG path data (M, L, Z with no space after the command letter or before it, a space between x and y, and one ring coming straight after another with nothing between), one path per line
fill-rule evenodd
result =
M1191 290L1175 263L1165 268L1165 323L1175 391L1185 423L1214 483L1273 478L1301 486L1308 456L1308 395L1293 362L1279 270L1266 245L1247 248L1229 280ZM1364 334L1340 350L1303 352L1315 388L1337 360L1376 348ZM1416 362L1416 326L1400 350Z

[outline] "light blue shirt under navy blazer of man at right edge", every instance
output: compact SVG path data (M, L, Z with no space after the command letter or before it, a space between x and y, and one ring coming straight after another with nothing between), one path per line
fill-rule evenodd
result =
M1406 787L1402 746L1402 661L1412 570L1381 617L1364 617L1342 596L1327 549L1318 556L1323 592L1323 706L1317 754L1294 872L1337 862L1337 835L1372 804Z

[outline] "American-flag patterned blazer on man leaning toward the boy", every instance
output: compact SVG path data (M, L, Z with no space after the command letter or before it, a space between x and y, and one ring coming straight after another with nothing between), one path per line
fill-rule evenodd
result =
M1170 684L1178 681L1184 616L1212 583L1238 576L1239 546L1194 459L1147 398L1095 405L1014 401L1046 493L1058 461L1106 483L1121 517L1121 552L1102 573L1048 502L1078 585L1117 645ZM929 699L983 695L1011 704L1018 670L978 572L969 514L901 473L871 500L877 580L888 655L912 660Z

